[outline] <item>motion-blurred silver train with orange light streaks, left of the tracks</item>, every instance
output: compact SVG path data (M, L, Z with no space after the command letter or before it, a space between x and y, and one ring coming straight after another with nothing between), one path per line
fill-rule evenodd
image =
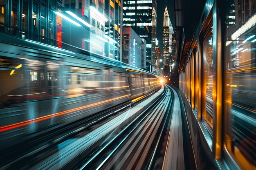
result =
M86 51L4 34L0 47L1 149L161 87L150 72Z

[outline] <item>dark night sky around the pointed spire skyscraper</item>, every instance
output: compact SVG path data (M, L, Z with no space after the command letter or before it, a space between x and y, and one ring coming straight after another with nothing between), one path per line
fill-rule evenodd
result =
M174 0L157 0L157 40L161 53L163 53L164 9L166 6L173 29L175 28Z

